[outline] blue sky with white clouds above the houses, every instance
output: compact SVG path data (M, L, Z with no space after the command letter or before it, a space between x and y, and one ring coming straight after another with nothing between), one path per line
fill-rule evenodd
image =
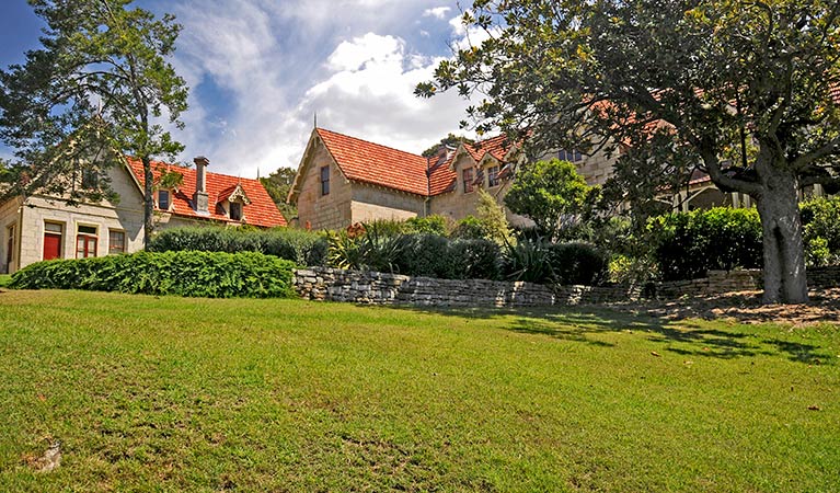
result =
M413 95L470 34L456 0L137 0L183 24L173 62L191 87L186 150L253 177L297 168L314 115L323 128L421 152L459 131L456 93ZM0 5L0 67L38 46L25 0ZM10 150L0 148L0 156Z

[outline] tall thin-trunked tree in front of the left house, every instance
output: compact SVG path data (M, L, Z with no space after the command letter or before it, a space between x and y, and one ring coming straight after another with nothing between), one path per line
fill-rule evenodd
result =
M47 27L24 65L0 71L0 138L19 163L4 194L48 191L87 195L72 173L137 157L145 174L145 239L153 228L151 162L183 146L164 127L181 128L187 88L168 61L181 26L157 20L133 0L28 0Z

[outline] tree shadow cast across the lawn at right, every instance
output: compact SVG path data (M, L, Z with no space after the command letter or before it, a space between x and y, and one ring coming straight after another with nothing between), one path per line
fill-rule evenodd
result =
M446 317L509 320L509 323L503 322L500 326L517 333L605 348L615 344L600 340L599 335L621 332L642 334L648 341L664 345L661 351L682 356L732 359L779 355L803 364L833 364L833 359L824 348L775 337L779 331L772 326L762 333L751 333L738 329L743 325L730 324L727 321L671 320L654 312L634 311L626 307L402 309Z

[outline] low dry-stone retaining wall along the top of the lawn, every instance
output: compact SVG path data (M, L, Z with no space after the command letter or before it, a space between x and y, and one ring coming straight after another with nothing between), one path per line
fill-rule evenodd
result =
M838 286L840 267L808 271L812 287ZM761 288L761 271L710 271L707 277L655 283L645 289L625 285L545 286L525 282L434 279L380 272L311 267L295 271L295 289L306 299L364 305L435 307L529 307L591 305L642 297L676 299Z

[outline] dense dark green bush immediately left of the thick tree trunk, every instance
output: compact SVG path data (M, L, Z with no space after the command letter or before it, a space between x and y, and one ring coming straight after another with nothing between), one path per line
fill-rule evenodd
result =
M663 280L762 265L761 222L755 209L717 207L668 214L652 218L647 231Z

